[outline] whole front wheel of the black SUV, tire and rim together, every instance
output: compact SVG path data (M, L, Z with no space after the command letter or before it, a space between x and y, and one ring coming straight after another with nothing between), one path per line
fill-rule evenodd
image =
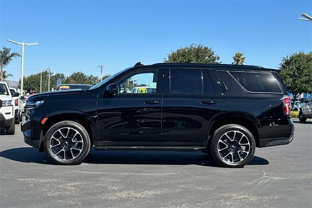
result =
M76 122L62 121L53 125L44 138L49 159L59 165L76 165L89 153L90 137Z

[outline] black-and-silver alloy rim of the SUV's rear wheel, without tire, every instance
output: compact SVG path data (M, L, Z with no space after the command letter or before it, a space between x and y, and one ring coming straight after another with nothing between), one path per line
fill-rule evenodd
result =
M243 161L250 149L248 138L240 131L228 131L218 141L218 153L226 163L235 164Z

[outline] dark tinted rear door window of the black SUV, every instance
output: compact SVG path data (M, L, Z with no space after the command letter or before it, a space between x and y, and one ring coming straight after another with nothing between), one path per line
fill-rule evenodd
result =
M170 93L202 93L200 69L170 69Z

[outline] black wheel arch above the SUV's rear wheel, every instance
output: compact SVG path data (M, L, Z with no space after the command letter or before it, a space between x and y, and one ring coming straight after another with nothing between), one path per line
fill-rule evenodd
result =
M207 145L215 130L223 125L236 124L247 128L254 136L256 147L259 147L258 128L261 127L258 120L251 114L246 112L225 112L215 116L209 126L207 132Z

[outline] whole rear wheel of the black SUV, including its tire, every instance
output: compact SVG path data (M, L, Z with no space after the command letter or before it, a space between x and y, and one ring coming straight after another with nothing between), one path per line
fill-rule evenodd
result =
M227 140L227 138L225 137L226 136L225 134L229 133L231 136L232 132L233 132L233 138L234 138L233 141ZM236 135L236 133L237 133L237 135ZM236 136L241 137L241 139L239 140L238 138L236 138ZM231 143L231 144L233 143L233 144L232 144L232 146L229 146L229 145L226 145L225 143L223 143L223 144L225 144L226 148L224 148L224 150L218 150L220 139L221 140L225 139L229 143ZM245 143L239 144L242 139L245 141ZM241 125L230 124L230 125L221 126L220 128L215 130L214 136L210 142L211 142L210 153L213 156L215 162L217 162L220 166L223 166L223 167L243 167L243 166L249 164L250 161L254 157L254 151L255 151L254 136L247 128L245 128ZM247 142L248 142L248 145L247 145ZM220 142L220 144L221 143L222 142ZM236 144L236 146L234 143ZM243 146L245 146L245 149L242 149ZM247 147L248 147L248 150L247 150ZM246 152L243 152L242 150L244 150ZM227 155L231 156L231 158L229 158L227 160L227 157L225 157L225 158L221 157L220 154L223 154L223 151L225 151L224 155L226 155L228 152L232 152L232 154L231 153L227 154ZM248 153L247 153L247 151L248 151ZM235 159L235 157L236 157L236 159ZM235 162L235 160L236 160L236 162Z

